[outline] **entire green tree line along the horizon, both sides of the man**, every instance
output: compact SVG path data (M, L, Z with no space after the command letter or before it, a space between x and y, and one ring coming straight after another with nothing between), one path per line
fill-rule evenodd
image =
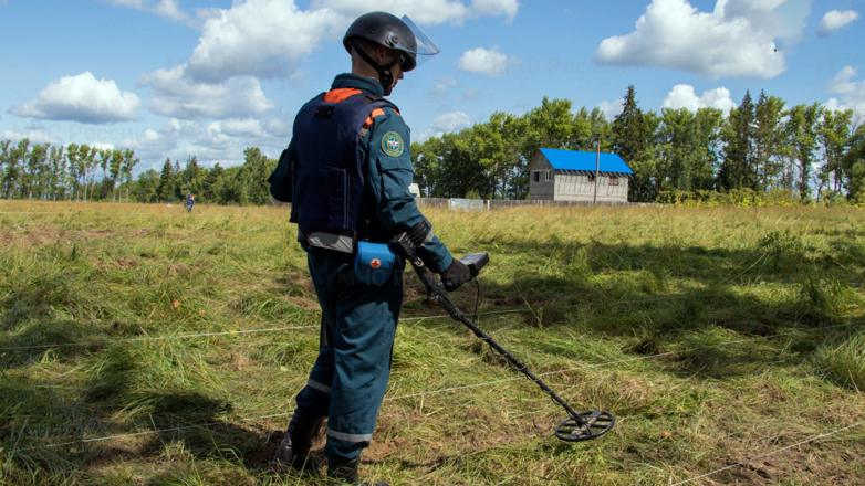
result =
M865 203L865 126L852 110L817 103L788 107L765 93L754 102L747 92L727 116L716 108L664 108L658 115L639 108L634 86L612 122L600 108L572 108L567 99L544 97L524 115L497 112L488 122L413 144L415 182L427 197L527 199L539 148L600 146L634 170L630 201L746 191ZM256 147L243 158L228 168L204 167L195 156L183 165L166 159L161 171L148 169L133 180L139 159L132 149L0 140L0 198L179 202L191 193L197 202L264 204L277 161Z

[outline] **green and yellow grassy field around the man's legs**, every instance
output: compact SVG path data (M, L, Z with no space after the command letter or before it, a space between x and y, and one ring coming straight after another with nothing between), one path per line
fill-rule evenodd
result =
M562 409L406 273L363 477L667 485L757 457L690 484L865 482L865 425L780 451L865 421L865 212L427 215L491 255L479 325L618 422L557 441ZM0 483L316 484L269 467L319 346L294 240L279 209L0 201Z

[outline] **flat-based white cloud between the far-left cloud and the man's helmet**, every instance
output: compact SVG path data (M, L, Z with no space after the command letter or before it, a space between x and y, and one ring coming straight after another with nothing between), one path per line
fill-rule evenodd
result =
M180 119L236 118L273 109L261 84L252 76L231 77L221 83L190 80L185 64L171 70L142 74L138 84L154 89L149 108Z

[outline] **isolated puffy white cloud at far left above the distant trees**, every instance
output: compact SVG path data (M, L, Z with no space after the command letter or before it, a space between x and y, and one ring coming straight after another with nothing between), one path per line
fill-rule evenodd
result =
M135 119L142 105L135 93L121 92L114 80L96 80L90 71L63 76L39 92L32 102L9 108L21 117L106 124Z

